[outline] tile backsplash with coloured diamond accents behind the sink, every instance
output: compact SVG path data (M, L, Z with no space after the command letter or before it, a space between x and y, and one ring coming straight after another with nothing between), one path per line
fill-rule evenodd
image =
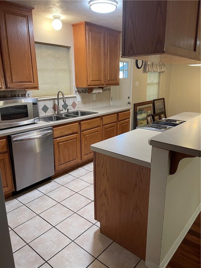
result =
M83 93L84 92L84 93ZM63 103L62 96L60 95L59 98L59 105L60 109L63 111L67 110L82 110L91 107L99 107L104 105L110 105L110 88L103 89L101 93L95 93L95 100L93 99L93 93L88 94L86 93L87 90L76 90L74 91L73 97L66 97L66 102ZM77 96L81 97L81 101L77 101ZM25 90L5 90L0 91L0 99L9 99L11 97L31 97L31 91ZM55 98L43 98L38 99L39 101L39 113L40 116L47 115L47 114L55 114L57 113L57 97Z

